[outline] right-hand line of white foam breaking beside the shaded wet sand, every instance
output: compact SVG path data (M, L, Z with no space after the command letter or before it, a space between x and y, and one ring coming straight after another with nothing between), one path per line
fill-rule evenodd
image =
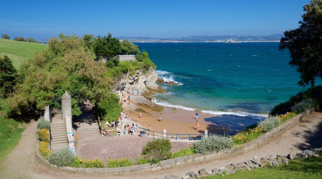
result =
M266 115L263 114L256 114L256 113L247 113L242 111L207 111L202 110L203 113L209 113L214 115L223 115L223 116L238 116L238 117L245 117L245 118L251 118L251 119L264 119L266 118Z

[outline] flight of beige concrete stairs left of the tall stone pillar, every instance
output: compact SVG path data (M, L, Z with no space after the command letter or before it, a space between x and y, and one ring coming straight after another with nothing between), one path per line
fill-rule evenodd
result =
M51 150L68 147L66 124L51 124Z

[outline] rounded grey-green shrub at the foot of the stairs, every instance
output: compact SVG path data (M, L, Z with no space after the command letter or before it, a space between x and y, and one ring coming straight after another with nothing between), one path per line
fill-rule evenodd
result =
M74 153L68 148L52 151L48 156L48 162L58 167L70 166L74 159Z

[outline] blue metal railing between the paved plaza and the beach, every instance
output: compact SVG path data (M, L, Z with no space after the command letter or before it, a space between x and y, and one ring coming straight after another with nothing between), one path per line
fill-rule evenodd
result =
M200 140L201 137L205 136L205 135L219 135L219 136L225 136L225 137L228 137L228 136L233 136L234 133L235 135L238 133L238 132L241 132L241 131L231 131L231 132L219 132L219 133L205 133L205 134L174 134L174 133L164 133L164 132L157 132L157 131L151 131L149 129L145 129L145 128L142 128L142 127L139 127L140 131L144 131L146 135L151 135L153 138L156 136L156 137L164 137L166 135L164 134L168 134L170 135L169 136L166 136L165 138L170 138L170 139L175 139L175 140L178 140L178 139L188 139L189 141L190 140ZM156 134L155 134L156 133ZM231 133L231 135L229 135ZM171 136L171 135L175 135L175 136ZM180 136L187 136L187 137L180 137ZM195 136L195 137L194 137Z

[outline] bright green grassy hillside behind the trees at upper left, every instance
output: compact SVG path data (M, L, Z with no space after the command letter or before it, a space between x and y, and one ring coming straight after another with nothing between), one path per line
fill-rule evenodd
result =
M25 60L33 58L35 52L42 52L45 49L47 44L0 39L0 56L3 58L7 55L16 69Z

